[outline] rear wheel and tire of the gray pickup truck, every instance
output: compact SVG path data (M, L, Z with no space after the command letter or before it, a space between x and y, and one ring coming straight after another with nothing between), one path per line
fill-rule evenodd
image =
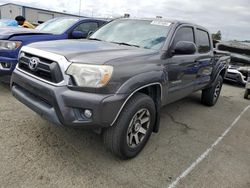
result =
M207 106L214 106L219 99L222 84L223 78L220 75L210 88L202 90L201 102Z

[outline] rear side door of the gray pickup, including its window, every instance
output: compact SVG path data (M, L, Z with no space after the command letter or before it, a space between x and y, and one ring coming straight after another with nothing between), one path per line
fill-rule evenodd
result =
M209 33L203 29L196 28L195 34L199 54L199 57L196 59L195 90L199 90L210 81L215 60Z

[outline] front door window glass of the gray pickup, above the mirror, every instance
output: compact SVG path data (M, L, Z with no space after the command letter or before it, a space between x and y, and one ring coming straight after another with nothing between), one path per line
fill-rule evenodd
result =
M194 29L192 27L180 28L175 34L173 46L175 46L179 41L188 41L194 43Z

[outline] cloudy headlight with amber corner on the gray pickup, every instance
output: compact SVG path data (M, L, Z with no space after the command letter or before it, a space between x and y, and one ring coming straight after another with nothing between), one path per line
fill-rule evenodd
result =
M74 78L74 81L81 87L99 88L105 86L113 72L109 65L88 65L72 63L66 73Z

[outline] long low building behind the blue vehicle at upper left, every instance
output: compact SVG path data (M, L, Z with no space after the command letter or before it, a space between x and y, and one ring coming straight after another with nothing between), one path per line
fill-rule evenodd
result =
M45 9L22 6L14 3L0 5L0 19L15 19L15 17L19 15L24 16L29 22L33 24L40 24L49 19L62 16L79 17L78 15L74 14L49 11Z

